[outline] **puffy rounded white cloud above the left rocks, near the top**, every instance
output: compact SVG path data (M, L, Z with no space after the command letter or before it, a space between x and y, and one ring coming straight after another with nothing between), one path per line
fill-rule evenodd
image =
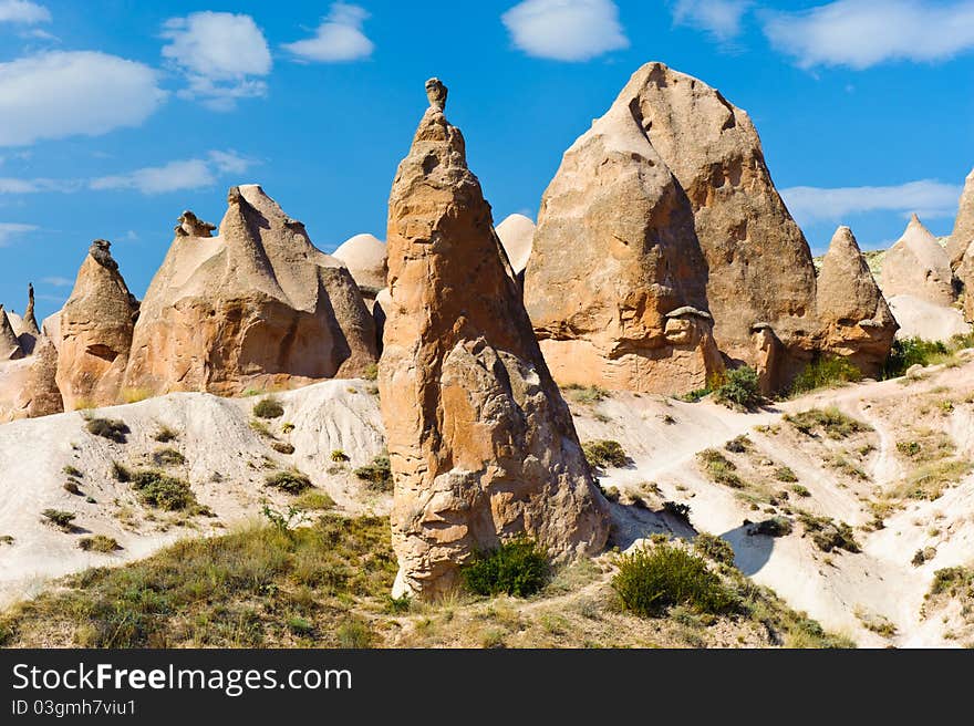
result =
M186 76L179 95L200 98L214 111L231 111L238 98L267 95L273 64L270 48L250 15L194 12L172 18L163 27L163 56Z

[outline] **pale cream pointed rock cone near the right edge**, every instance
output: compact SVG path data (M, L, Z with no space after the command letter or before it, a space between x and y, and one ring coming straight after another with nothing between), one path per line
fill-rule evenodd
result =
M954 303L950 257L916 215L887 252L879 284L887 299L908 294L943 307Z

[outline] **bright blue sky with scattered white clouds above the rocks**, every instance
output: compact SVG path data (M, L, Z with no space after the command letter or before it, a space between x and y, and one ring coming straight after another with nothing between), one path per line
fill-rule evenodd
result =
M499 221L535 217L563 151L662 61L753 116L816 252L910 211L949 234L974 166L974 1L0 0L0 302L66 300L92 239L139 297L183 209L218 222L256 182L315 243L385 236L426 106Z

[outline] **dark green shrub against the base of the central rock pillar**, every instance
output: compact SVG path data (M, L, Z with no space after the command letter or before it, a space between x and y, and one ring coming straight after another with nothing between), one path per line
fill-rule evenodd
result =
M548 554L524 536L497 549L476 552L460 567L467 590L485 597L506 593L528 598L545 587L549 573Z

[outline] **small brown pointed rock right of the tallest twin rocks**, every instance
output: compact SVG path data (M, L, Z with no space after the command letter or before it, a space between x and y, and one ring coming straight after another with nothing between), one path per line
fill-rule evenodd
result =
M832 237L816 294L820 349L848 359L866 375L879 374L899 325L848 227Z

